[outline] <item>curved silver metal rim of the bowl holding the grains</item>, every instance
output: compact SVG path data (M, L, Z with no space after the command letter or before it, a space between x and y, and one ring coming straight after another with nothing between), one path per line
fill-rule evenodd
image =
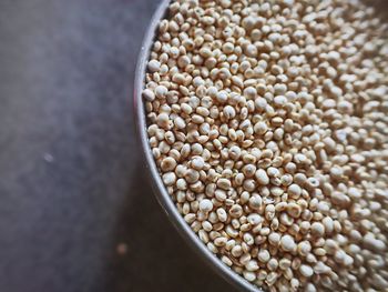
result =
M215 270L221 276L223 276L227 282L235 285L241 291L262 291L257 286L251 284L244 278L232 271L226 266L215 254L213 254L205 244L198 239L195 232L188 226L184 221L182 215L178 213L174 202L171 200L163 181L159 174L154 158L151 152L151 147L149 143L147 132L146 132L146 115L144 103L142 99L142 91L144 88L144 78L146 73L146 63L150 57L150 51L154 42L159 22L166 16L169 9L170 0L163 0L159 6L156 12L154 13L150 28L144 37L144 41L141 48L135 84L134 84L134 108L136 114L137 132L140 135L141 144L143 148L143 153L145 158L145 164L151 180L153 182L153 190L157 198L157 201L166 212L170 221L175 225L181 235L186 240L190 246L197 253L198 258L204 260L213 270Z

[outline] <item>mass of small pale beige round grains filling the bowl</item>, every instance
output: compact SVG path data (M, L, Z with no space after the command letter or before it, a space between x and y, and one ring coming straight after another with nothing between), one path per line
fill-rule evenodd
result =
M200 240L266 291L388 291L388 26L358 0L180 0L142 92Z

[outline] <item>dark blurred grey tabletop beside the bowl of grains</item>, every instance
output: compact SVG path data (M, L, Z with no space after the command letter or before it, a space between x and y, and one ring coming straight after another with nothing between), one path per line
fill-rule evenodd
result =
M142 168L132 82L156 6L1 0L1 292L234 291Z

